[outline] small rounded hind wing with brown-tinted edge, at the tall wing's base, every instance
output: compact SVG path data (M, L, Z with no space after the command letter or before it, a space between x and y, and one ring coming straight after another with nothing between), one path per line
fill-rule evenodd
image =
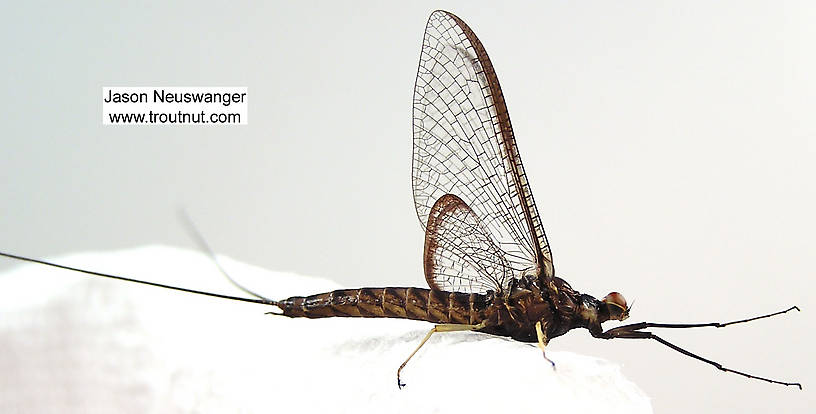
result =
M503 292L512 277L504 252L462 199L440 197L425 230L425 280L436 290Z

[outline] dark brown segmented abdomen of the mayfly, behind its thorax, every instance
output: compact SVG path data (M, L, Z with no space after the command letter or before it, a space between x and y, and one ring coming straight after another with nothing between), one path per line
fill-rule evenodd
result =
M490 302L487 295L478 293L388 287L292 296L278 301L278 307L292 318L404 318L475 325L485 319Z

